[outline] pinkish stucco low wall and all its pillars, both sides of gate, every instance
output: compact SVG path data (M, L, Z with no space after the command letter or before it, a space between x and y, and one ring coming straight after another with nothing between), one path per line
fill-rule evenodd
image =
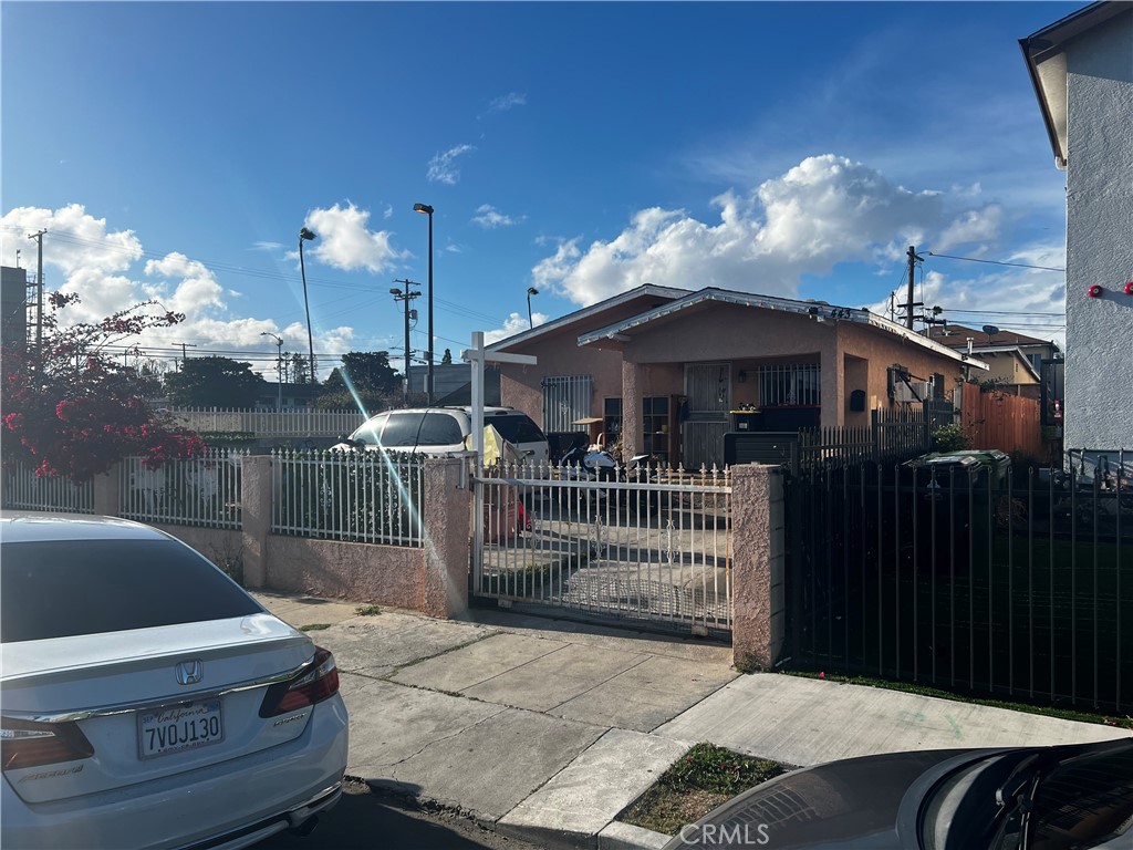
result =
M244 460L242 528L159 526L213 561L239 564L249 588L390 605L437 618L468 610L471 488L458 459L429 459L420 549L273 535L272 459ZM95 481L95 512L116 516L118 470ZM732 469L732 656L741 669L772 669L786 641L786 550L778 467Z

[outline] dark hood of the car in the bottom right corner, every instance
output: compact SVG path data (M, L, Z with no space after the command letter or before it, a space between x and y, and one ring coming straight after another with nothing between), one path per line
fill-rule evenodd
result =
M957 757L962 757L959 758ZM866 756L807 767L765 782L687 826L675 848L917 847L902 835L898 813L911 789L919 798L947 762L968 762L973 750L930 750ZM913 819L915 822L915 819Z

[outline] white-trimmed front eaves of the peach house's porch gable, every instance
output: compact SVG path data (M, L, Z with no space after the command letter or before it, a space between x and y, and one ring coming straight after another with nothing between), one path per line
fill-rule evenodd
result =
M825 301L800 301L793 298L780 298L777 296L769 295L749 295L748 292L736 292L727 289L716 289L713 287L701 289L698 292L691 292L684 298L671 301L670 304L664 304L659 307L646 311L645 313L639 313L636 316L630 316L629 318L606 328L585 333L578 338L578 345L591 346L607 340L627 342L629 341L629 333L631 331L637 330L649 322L665 316L671 316L674 313L680 313L681 311L689 309L690 307L696 307L697 305L708 301L733 304L740 307L757 307L759 309L780 311L782 313L791 313L799 316L812 316L816 320L821 320L824 322L853 322L854 324L863 324L885 331L886 333L892 333L906 342L912 342L943 357L957 360L969 366L974 366L976 368L989 368L989 366L981 360L969 357L966 354L957 351L956 349L943 346L939 342L928 339L927 337L920 335L919 333L913 333L904 325L891 322L888 318L883 318L881 316L870 313L868 309L837 307L826 304Z

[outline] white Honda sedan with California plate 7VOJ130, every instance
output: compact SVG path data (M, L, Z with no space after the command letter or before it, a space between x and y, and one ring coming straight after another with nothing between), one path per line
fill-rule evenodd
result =
M240 848L341 796L334 658L202 554L0 513L0 844Z

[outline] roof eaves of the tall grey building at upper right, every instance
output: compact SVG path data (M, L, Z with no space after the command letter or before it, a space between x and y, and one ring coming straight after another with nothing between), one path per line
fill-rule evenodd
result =
M1133 2L1097 2L1019 40L1026 70L1047 126L1055 165L1066 168L1066 43L1110 18L1133 10Z

